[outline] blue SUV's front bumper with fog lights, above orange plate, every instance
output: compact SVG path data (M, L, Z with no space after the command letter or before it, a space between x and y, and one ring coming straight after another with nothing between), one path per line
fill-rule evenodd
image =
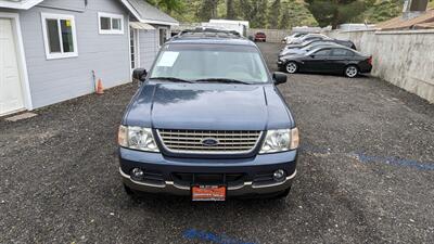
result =
M296 158L297 151L256 155L252 158L175 158L161 153L122 147L119 171L123 182L132 190L174 195L190 195L192 185L208 184L194 180L204 175L221 175L224 179L232 179L233 175L240 175L237 180L218 183L227 185L227 195L230 197L269 194L289 189L296 175ZM131 179L129 174L137 167L150 172L150 180ZM286 177L281 181L268 177L277 169L286 172ZM192 175L193 180L178 177L186 175Z

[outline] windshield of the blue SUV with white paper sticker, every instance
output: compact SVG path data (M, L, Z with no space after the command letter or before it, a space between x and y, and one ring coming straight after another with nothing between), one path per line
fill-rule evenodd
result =
M269 80L256 48L225 44L166 44L150 76L190 81L231 79L250 84Z

